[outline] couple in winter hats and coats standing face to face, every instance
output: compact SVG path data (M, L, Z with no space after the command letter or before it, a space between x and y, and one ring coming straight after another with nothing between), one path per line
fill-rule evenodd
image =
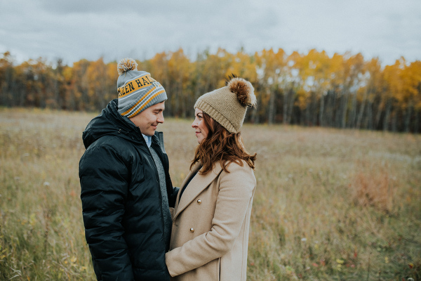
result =
M79 162L86 241L98 280L246 280L255 155L240 128L255 106L250 82L201 96L199 145L173 188L163 135L166 91L132 59L118 65L119 98L83 132Z

